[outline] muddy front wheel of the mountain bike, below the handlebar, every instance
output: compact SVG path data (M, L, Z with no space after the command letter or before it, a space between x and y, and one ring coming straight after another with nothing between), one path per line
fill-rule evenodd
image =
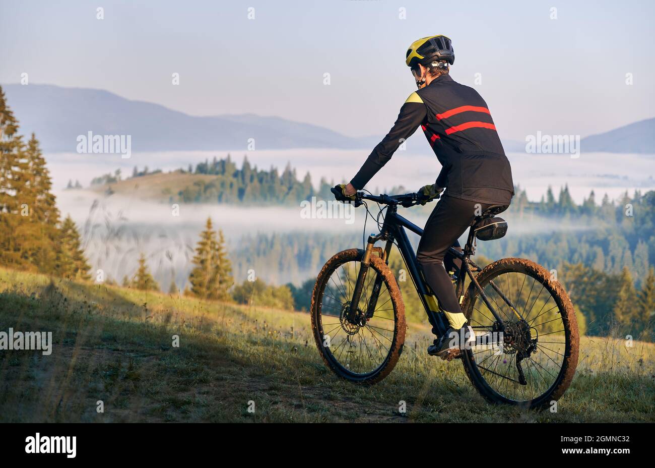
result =
M373 254L365 284L370 286L378 276L383 281L375 314L362 326L346 321L343 311L363 257L364 250L352 248L327 261L314 284L310 313L316 347L326 366L346 380L376 383L393 370L402 353L405 306L394 275ZM365 285L360 304L368 298Z

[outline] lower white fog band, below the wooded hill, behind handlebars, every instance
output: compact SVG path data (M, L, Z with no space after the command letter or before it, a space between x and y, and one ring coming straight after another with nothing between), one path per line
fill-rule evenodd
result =
M367 216L364 206L341 212L342 218L303 218L303 209L296 207L241 207L234 205L181 204L179 208L166 203L141 201L119 195L99 195L92 191L69 190L58 193L58 206L62 214L70 214L80 227L83 248L92 271L102 269L105 279L121 281L131 277L144 254L153 276L160 286L168 289L171 281L183 288L192 268L194 250L200 231L208 217L214 228L225 235L231 255L243 252L247 238L257 234L293 233L307 236L328 233L357 239L352 246L360 247L362 235L377 233L377 225ZM343 205L341 205L343 206ZM434 205L424 208L402 209L403 216L423 227ZM377 205L369 204L371 214L377 215ZM307 214L307 212L305 212ZM333 212L339 215L340 212ZM366 227L364 231L364 221ZM563 230L589 229L589 226L553 222L534 216L517 219L507 215L510 235L525 235ZM381 218L382 219L382 218ZM416 247L419 237L409 233ZM464 239L462 239L462 242ZM234 277L241 282L247 275L248 265L235 268ZM258 265L257 275L265 281L277 279L276 265ZM301 271L295 283L315 275L316 271ZM279 281L278 281L279 282Z

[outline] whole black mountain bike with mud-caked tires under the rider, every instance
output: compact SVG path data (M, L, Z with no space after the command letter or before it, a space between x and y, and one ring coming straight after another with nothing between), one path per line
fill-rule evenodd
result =
M336 189L333 193L339 199ZM405 341L405 306L388 266L394 244L432 331L440 336L449 325L405 231L421 236L423 230L398 214L398 206L415 206L421 195L358 192L352 203L366 201L383 206L376 220L386 211L380 232L369 235L365 249L343 250L327 260L314 284L310 312L316 346L328 368L349 381L376 383L392 371ZM480 229L497 224L493 221L500 218L494 217L504 208L481 212L464 248L453 246L447 253L462 262L451 278L476 334L474 345L457 350L455 359L487 401L544 408L571 384L578 364L578 323L569 296L541 265L504 258L481 268L470 259L477 239L489 238L481 237ZM378 241L384 247L375 246Z

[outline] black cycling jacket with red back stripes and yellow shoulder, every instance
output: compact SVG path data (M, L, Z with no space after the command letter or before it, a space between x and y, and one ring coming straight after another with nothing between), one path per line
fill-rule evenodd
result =
M487 103L474 88L460 85L450 75L436 77L407 98L394 127L350 183L362 189L419 125L441 163L436 184L446 188L444 195L492 205L510 204L514 195L512 168Z

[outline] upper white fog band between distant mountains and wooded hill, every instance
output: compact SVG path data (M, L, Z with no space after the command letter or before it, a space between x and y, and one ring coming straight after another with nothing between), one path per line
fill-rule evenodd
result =
M54 187L62 189L69 180L79 180L85 187L92 178L107 172L113 173L121 168L123 176L132 174L134 166L142 170L164 171L193 167L205 159L221 159L225 151L166 151L160 153L133 153L130 159L120 155L84 155L77 153L54 153L47 155L48 168L53 176ZM297 170L298 178L307 172L312 176L314 186L321 178L328 182L342 182L350 178L360 168L367 157L366 151L346 151L336 149L289 149L278 151L243 151L231 153L238 167L244 159L260 169L275 166L281 172L287 163ZM538 201L553 187L555 196L559 187L569 185L569 191L581 203L593 189L597 200L605 193L611 199L620 197L626 190L630 194L639 189L655 189L654 155L582 153L573 159L567 154L526 154L509 153L512 163L514 183L527 191L529 199ZM416 155L398 151L391 161L375 176L367 187L377 193L403 185L408 191L415 191L425 184L434 182L440 165L434 155Z

